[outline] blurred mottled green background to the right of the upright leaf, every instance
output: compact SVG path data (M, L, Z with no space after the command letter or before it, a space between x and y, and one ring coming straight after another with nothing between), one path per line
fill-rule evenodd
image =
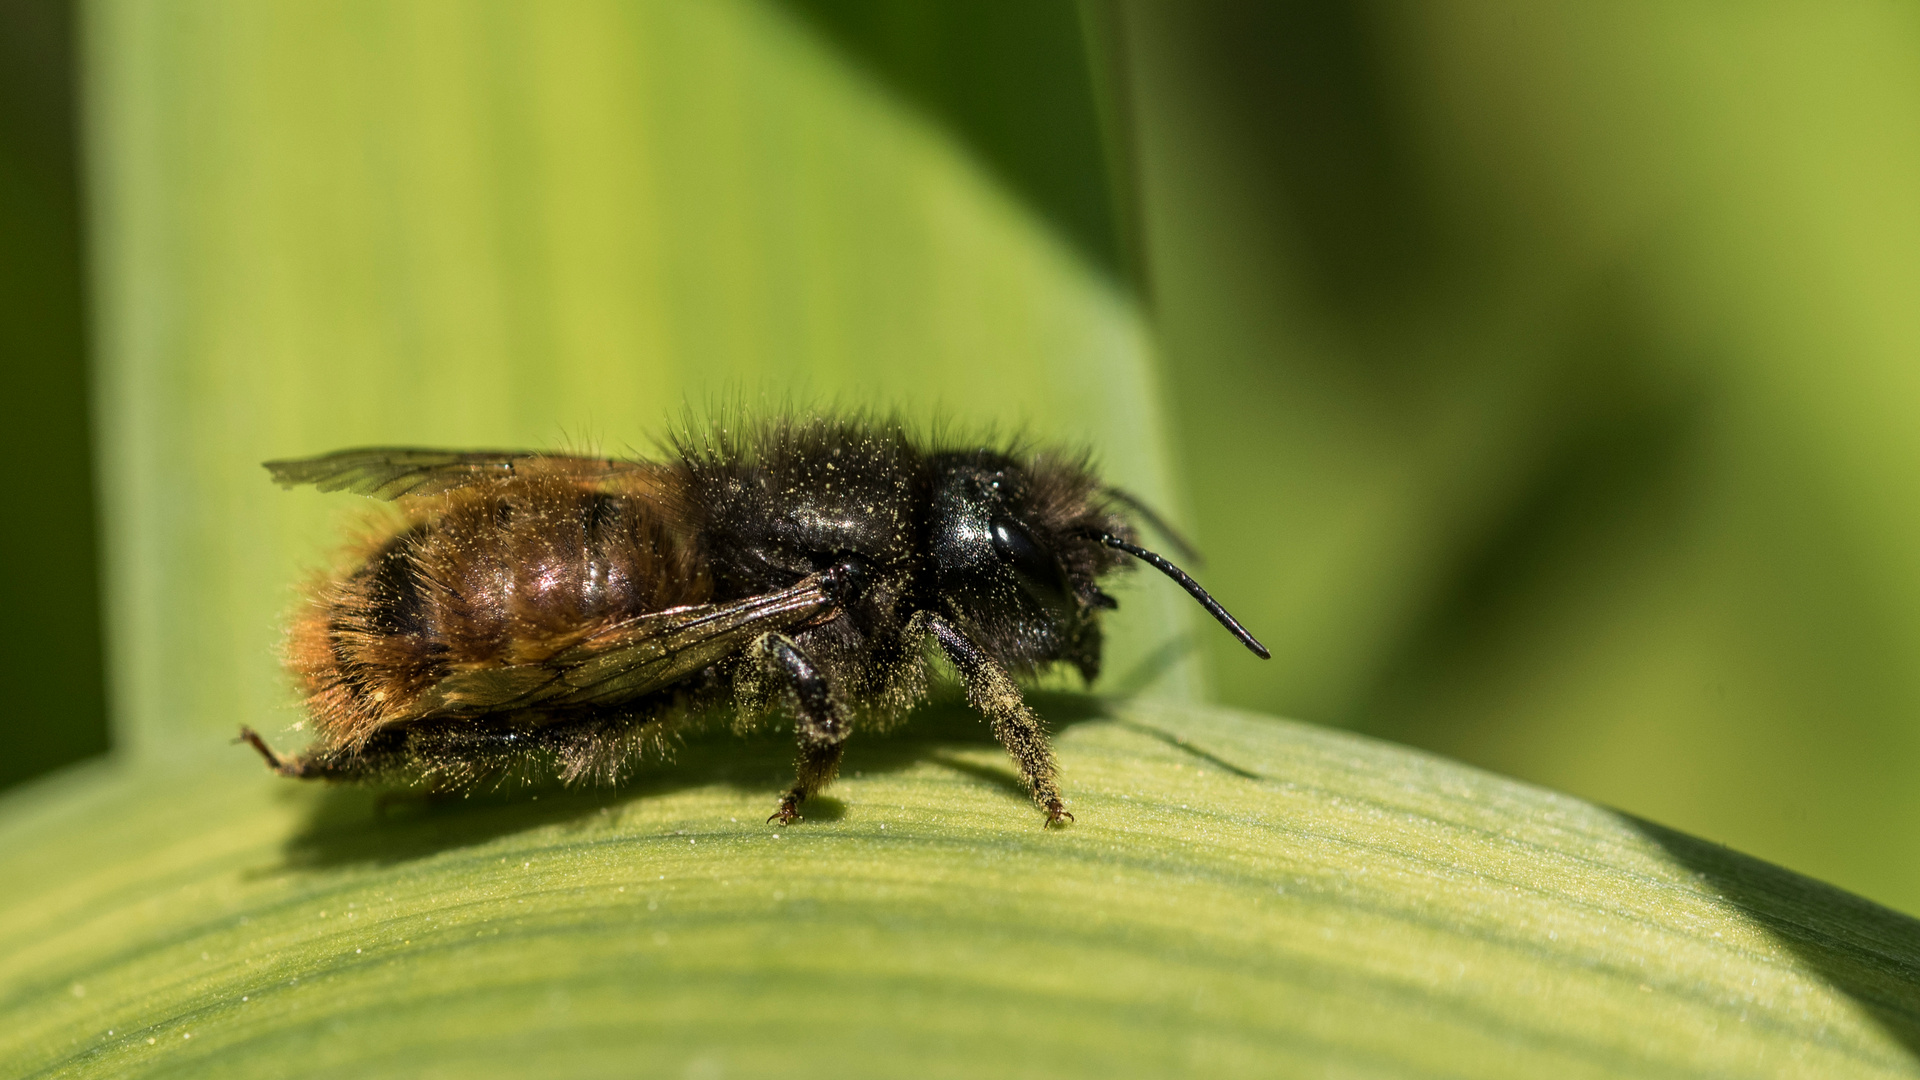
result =
M1125 12L1221 696L1920 911L1920 10Z

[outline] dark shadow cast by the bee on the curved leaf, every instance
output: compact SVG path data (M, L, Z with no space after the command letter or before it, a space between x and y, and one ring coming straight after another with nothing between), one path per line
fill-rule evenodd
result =
M1106 701L1091 694L1033 692L1029 701L1056 732L1108 717ZM920 763L939 763L998 786L1018 799L1008 803L1008 824L1037 828L1037 817L1027 821L1033 807L1025 805L1027 792L1012 761L983 767L973 761L975 753L964 757L956 753L987 748L1000 749L987 721L962 701L937 696L889 730L854 734L847 748L843 776L900 773ZM311 809L288 838L284 861L275 872L407 863L530 828L584 830L628 803L695 788L722 786L741 796L762 796L749 811L770 813L791 776L791 728L770 724L741 736L724 723L714 723L689 732L666 759L645 761L614 788L545 784L511 794L426 796L371 786L328 786L307 796ZM816 798L806 803L806 817L799 828L833 822L845 813L845 801L831 796Z

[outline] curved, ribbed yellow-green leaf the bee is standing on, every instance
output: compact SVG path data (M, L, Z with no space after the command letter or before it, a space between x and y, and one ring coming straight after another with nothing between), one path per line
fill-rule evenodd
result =
M48 1076L1912 1076L1920 926L1357 736L1048 696L634 788L399 803L71 776L0 830L0 1061ZM109 1034L111 1032L111 1034ZM152 1040L152 1042L148 1042Z

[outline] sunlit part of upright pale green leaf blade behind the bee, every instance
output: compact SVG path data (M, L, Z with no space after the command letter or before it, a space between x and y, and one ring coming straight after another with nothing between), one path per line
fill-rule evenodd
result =
M123 748L298 721L275 625L359 511L267 459L651 452L791 400L1027 429L1171 505L1137 300L780 6L90 12ZM1108 671L1190 626L1160 584Z

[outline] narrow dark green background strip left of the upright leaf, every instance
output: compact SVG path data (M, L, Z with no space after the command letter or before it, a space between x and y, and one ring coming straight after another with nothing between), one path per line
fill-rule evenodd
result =
M71 35L0 2L0 788L106 749Z

